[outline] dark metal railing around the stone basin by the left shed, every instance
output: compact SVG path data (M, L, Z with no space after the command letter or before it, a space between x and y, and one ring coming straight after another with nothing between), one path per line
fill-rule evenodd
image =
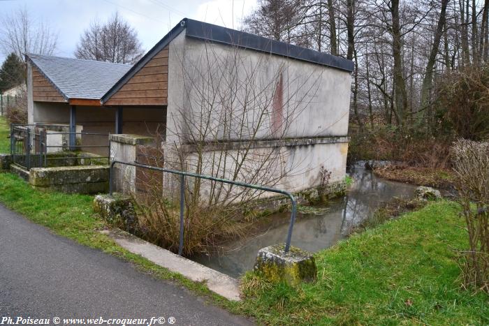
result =
M50 130L48 129L50 128ZM59 128L61 131L55 131L52 129ZM101 160L109 158L110 143L108 145L73 145L64 144L62 140L63 136L77 137L77 135L99 135L107 136L108 133L71 133L69 131L62 131L63 128L67 128L66 125L56 124L11 124L10 125L10 154L12 156L13 163L20 165L22 168L30 170L31 168L43 168L46 166L58 166L60 163L56 161L73 161L80 159L93 159ZM61 145L50 145L48 137L61 135ZM52 154L63 153L67 151L76 151L79 149L91 149L91 148L106 148L107 156L63 156L52 155L48 153L50 148L59 149ZM68 154L66 154L68 155ZM54 161L54 163L51 163ZM49 162L49 163L48 163Z

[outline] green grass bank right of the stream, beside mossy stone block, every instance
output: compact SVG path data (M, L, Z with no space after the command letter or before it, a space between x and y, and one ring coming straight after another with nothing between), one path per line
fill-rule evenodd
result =
M249 274L246 311L277 325L487 325L488 295L460 290L455 249L467 244L457 209L435 202L316 253L314 284Z

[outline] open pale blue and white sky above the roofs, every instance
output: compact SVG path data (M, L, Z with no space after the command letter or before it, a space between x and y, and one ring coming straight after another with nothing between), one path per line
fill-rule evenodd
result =
M108 20L116 11L138 32L145 51L187 17L239 28L256 0L0 0L0 16L26 7L29 14L58 33L54 55L73 57L80 35L93 20ZM5 54L0 53L0 63Z

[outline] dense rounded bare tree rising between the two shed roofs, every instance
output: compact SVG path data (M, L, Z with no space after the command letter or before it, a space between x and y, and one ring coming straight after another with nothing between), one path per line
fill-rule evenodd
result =
M117 12L105 24L96 20L92 22L75 50L78 59L117 64L134 64L143 54L138 34Z

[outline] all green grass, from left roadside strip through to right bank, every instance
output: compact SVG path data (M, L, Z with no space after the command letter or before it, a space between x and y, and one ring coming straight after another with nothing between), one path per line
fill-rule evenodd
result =
M318 281L292 288L247 274L245 300L228 302L205 284L154 265L98 232L93 197L36 191L0 173L0 202L58 235L170 279L233 313L275 325L489 324L489 297L460 290L455 249L467 246L453 202L435 202L316 253Z

